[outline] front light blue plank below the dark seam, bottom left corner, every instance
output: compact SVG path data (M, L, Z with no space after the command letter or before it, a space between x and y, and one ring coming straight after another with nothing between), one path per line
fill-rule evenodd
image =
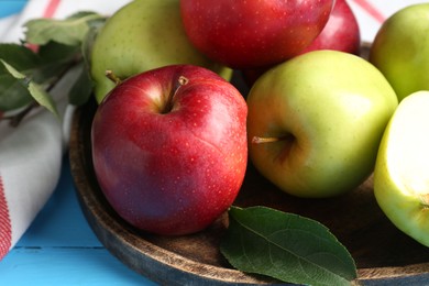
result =
M0 277L14 286L156 285L103 248L15 248L0 262Z

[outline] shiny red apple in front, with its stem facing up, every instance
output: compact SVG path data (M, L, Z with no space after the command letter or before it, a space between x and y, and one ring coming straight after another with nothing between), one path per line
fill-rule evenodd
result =
M145 231L205 229L244 179L246 114L242 95L202 67L165 66L121 82L92 122L94 168L107 200Z

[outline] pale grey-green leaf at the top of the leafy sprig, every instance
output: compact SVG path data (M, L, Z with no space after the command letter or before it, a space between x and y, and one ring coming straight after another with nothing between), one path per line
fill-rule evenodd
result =
M25 40L36 45L45 45L51 41L65 45L79 45L87 34L90 22L105 19L95 12L78 12L72 16L57 19L34 19L24 24Z

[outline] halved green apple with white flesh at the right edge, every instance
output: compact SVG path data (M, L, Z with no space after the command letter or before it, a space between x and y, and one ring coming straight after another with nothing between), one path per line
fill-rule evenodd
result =
M429 246L429 91L400 101L377 155L375 198L404 233Z

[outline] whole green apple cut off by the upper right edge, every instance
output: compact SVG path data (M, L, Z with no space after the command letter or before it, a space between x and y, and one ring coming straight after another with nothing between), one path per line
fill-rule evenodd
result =
M429 89L429 3L406 7L388 18L371 46L370 62L387 78L399 101Z

